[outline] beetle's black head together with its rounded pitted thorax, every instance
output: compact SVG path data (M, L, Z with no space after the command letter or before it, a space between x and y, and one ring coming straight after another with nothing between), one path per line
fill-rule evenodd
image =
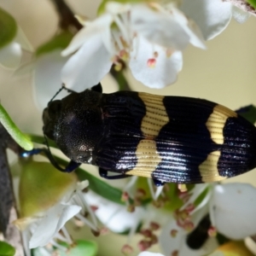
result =
M102 138L102 94L92 90L71 93L61 101L51 101L44 109L44 135L78 163L91 163Z

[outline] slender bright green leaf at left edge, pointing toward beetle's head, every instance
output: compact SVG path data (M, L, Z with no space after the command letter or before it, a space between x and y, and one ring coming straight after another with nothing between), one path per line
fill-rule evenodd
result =
M21 148L24 148L26 150L32 150L33 143L30 138L20 131L20 129L15 125L14 121L9 117L9 114L6 112L1 104L0 122L2 123L6 131L9 132L9 135L13 137L15 142L18 143Z

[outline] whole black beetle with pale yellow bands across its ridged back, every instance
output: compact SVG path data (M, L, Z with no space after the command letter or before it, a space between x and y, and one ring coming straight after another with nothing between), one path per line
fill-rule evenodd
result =
M208 183L256 166L256 128L207 100L134 91L104 94L97 84L49 102L43 119L44 134L71 166L99 166L106 178Z

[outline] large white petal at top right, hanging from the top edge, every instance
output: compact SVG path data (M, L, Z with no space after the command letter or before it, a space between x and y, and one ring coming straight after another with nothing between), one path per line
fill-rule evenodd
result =
M231 19L232 4L222 0L183 0L181 10L200 26L206 40L223 32Z

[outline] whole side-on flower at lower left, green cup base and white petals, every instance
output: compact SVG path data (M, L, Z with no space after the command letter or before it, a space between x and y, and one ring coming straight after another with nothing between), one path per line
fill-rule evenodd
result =
M55 240L72 244L64 225L74 216L91 230L99 231L95 215L82 193L88 185L88 181L78 183L74 173L56 171L48 162L27 160L22 164L19 188L22 218L15 224L22 230L28 256L30 248L44 247L49 242L58 246ZM85 212L90 213L91 221L84 218Z

